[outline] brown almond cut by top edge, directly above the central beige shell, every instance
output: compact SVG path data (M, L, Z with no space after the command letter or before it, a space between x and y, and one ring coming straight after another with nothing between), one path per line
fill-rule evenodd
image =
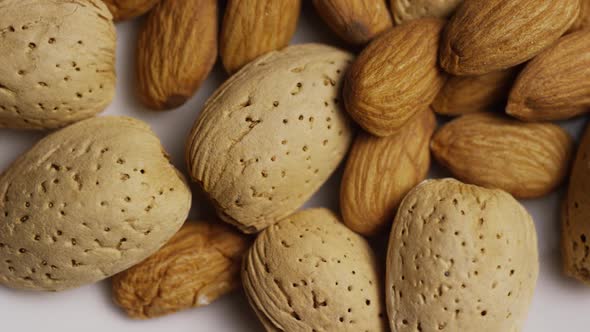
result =
M229 74L287 45L299 20L300 0L228 0L219 52Z

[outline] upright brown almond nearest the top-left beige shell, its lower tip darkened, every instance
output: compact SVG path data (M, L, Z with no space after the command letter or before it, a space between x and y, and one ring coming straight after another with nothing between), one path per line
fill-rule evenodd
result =
M154 110L183 105L217 58L217 1L168 0L150 12L137 44L137 89Z

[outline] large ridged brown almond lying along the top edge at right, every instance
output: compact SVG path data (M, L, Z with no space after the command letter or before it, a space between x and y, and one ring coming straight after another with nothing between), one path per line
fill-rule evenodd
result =
M453 75L483 75L530 60L573 24L580 0L470 0L449 21L441 66Z

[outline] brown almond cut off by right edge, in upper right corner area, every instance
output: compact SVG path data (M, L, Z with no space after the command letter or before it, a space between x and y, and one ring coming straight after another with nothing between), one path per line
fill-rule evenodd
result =
M562 37L518 76L506 112L524 121L565 120L590 111L590 30Z

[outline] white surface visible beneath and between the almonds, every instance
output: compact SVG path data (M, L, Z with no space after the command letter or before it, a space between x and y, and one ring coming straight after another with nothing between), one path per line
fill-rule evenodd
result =
M133 55L138 22L118 26L118 86L114 103L104 114L124 114L147 121L162 139L173 161L184 166L184 142L206 98L226 79L219 64L199 93L184 107L156 113L144 109L134 96ZM293 43L324 42L342 46L306 6ZM564 123L579 137L583 120ZM26 151L43 133L0 130L0 171ZM338 208L337 172L307 206ZM433 176L445 176L436 169ZM541 271L526 332L587 331L590 326L590 288L564 277L559 251L558 200L561 191L549 197L523 202L533 215L539 235ZM191 213L197 216L199 202ZM0 331L262 331L244 296L237 292L208 307L186 310L167 317L133 321L111 303L110 284L102 282L56 294L13 291L0 287ZM468 331L465 331L468 332ZM501 331L498 331L501 332Z

